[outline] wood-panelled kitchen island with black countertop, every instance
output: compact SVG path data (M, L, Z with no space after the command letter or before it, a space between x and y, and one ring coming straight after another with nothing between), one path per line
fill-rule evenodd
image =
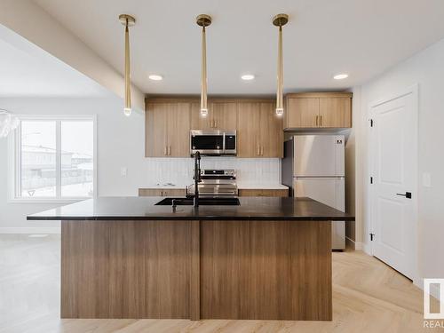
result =
M62 318L332 319L331 220L308 198L239 206L103 197L28 216L61 220Z

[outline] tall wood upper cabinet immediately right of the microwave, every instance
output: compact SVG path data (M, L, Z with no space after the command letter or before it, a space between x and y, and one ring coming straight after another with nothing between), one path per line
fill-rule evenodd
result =
M282 119L274 102L240 102L237 138L239 157L282 157Z

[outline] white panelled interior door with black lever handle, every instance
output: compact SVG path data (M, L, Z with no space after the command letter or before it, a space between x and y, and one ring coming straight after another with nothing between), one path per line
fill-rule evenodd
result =
M371 107L369 134L373 255L410 279L416 263L416 96L412 90Z

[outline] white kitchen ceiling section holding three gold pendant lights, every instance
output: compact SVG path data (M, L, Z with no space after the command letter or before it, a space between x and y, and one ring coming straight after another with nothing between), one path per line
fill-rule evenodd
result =
M442 0L35 0L122 73L120 13L133 14L132 81L147 93L200 91L201 32L208 13L208 80L212 94L273 94L277 29L286 12L285 91L344 90L364 83L444 37ZM337 73L349 79L335 81ZM148 74L164 76L151 82ZM240 75L257 79L242 82Z

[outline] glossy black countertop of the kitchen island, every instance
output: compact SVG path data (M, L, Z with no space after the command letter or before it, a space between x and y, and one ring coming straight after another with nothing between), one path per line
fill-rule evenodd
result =
M240 206L155 206L162 197L99 197L45 210L28 220L354 220L309 198L240 197Z

